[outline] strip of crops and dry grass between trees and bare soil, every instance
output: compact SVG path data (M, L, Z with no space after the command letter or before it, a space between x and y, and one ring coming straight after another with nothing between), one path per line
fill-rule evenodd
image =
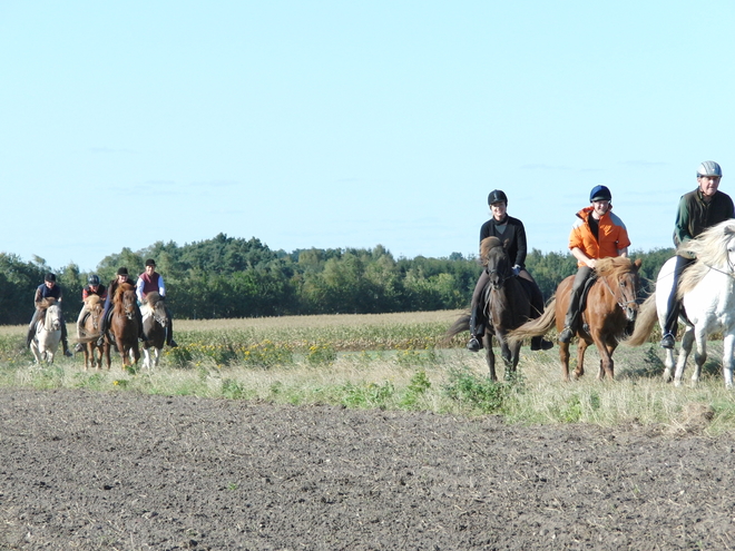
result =
M616 351L615 382L597 381L594 347L585 377L565 383L557 347L532 353L523 346L517 376L493 383L487 378L484 352L464 350L467 334L444 340L459 314L176 321L179 346L166 348L157 368L139 364L124 371L116 355L109 372L85 371L81 354L58 356L50 366L31 365L26 327L4 326L0 386L497 414L525 424L660 423L672 432L713 434L735 427L734 394L725 390L721 373L722 342L710 343L696 387L688 384L690 365L685 386L663 382L663 351L653 343ZM68 328L75 335L74 324Z

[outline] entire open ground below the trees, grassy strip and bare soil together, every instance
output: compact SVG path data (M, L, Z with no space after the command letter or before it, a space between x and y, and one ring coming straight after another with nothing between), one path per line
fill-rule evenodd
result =
M0 549L735 547L722 344L695 388L654 345L491 383L457 314L180 322L153 371L0 329Z

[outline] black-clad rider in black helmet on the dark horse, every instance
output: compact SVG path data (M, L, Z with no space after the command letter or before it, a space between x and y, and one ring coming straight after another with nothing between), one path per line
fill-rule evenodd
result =
M526 229L523 223L518 218L508 216L508 196L500 189L493 189L488 196L488 205L492 218L486 222L480 228L480 243L486 237L498 237L501 242L508 240L508 257L513 263L513 275L520 276L530 282L531 289L531 317L536 318L543 312L543 295L531 274L526 269ZM471 317L470 317L470 341L467 348L471 352L478 352L482 348L482 336L484 335L484 312L481 304L481 296L484 287L488 285L490 276L486 269L482 270L472 293ZM540 336L531 338L531 350L549 350L553 343L545 341Z

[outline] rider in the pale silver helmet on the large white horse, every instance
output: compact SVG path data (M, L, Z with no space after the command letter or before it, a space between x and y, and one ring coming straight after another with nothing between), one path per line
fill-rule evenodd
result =
M677 247L689 239L694 239L705 229L735 217L733 199L717 188L723 177L723 170L714 160L705 160L697 168L697 188L683 195L679 199L679 209L676 213L674 225L674 245ZM694 258L676 255L674 268L674 283L669 291L666 313L666 323L661 328L660 345L673 348L676 341L676 322L679 317L679 304L676 299L676 289L684 269Z

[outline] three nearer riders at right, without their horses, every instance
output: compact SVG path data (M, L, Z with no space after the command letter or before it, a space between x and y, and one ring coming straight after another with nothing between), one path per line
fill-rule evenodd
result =
M668 351L674 348L677 319L682 313L680 301L677 297L679 279L684 270L695 262L693 255L686 253L684 245L705 230L735 217L732 198L718 190L722 176L722 168L717 163L712 160L702 163L697 168L697 188L685 194L679 200L674 225L674 245L677 247L674 276L669 278L670 288L657 289L659 295L666 295L666 299L661 301L665 303L665 312L661 313L661 307L659 307L658 314L660 319L665 319L665 323L661 323L660 346ZM566 347L565 345L568 345L570 340L579 334L581 325L585 324L582 321L585 289L589 281L596 276L596 268L599 267L600 260L616 257L627 258L630 246L625 224L612 213L610 190L606 186L595 186L589 194L589 206L577 213L569 234L569 250L577 259L578 269L571 285L564 324L560 321L558 323L561 328L558 340L562 347ZM492 218L480 228L480 243L482 244L489 237L496 237L502 244L508 254L508 262L512 265L512 275L522 279L523 287L529 295L531 308L528 317L530 319L539 318L543 314L543 297L533 277L525 267L528 245L523 224L518 218L508 215L508 196L503 191L499 189L491 191L488 204ZM607 263L605 265L607 266ZM472 352L478 352L483 347L486 331L492 329L493 326L493 319L488 318L491 276L488 266L480 275L472 295L469 318L470 340L467 344L468 350ZM525 335L533 335L531 337L532 351L549 350L553 346L551 342L543 340L542 335L535 333ZM488 341L484 342L487 345Z

